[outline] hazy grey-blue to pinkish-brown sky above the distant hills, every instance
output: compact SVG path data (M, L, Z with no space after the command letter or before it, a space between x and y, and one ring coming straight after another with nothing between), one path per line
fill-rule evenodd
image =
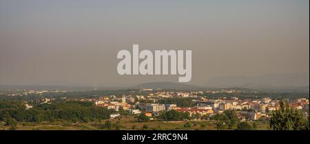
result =
M0 0L0 84L123 86L119 50L192 50L192 84L309 73L309 0Z

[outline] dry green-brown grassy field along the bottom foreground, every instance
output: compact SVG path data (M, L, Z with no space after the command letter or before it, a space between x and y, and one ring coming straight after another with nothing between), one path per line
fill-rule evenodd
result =
M110 128L105 127L105 121L112 122ZM184 127L185 123L187 121L148 121L139 123L136 121L135 116L122 116L121 119L90 123L69 123L62 121L40 123L22 122L17 125L16 130L216 130L216 121L188 121L191 126L187 128ZM232 130L234 129L236 129L236 125L232 128ZM4 126L4 123L1 123L0 130L10 130L10 127ZM259 122L257 130L268 130L268 124L266 122Z

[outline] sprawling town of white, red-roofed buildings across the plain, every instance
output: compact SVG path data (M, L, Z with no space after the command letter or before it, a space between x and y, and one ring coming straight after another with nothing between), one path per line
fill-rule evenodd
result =
M141 114L141 110L145 111L147 116L154 116L157 112L163 110L177 110L178 112L189 112L192 114L200 115L214 115L221 114L225 110L236 110L238 118L242 121L257 120L262 117L269 118L270 112L278 110L280 101L272 100L268 97L264 99L243 99L240 100L237 97L233 99L207 99L205 97L198 96L203 94L203 92L152 92L152 89L145 89L143 91L149 92L149 94L136 95L136 96L122 96L121 98L116 98L116 96L104 97L98 101L95 101L95 105L101 107L107 107L109 110L118 111L120 108L123 110L129 110L130 114ZM210 91L214 92L239 92L238 90L219 90ZM176 104L159 104L158 99L167 99L169 97L182 97L182 98L196 98L193 99L197 103L194 107L177 107ZM139 103L135 101L147 100L151 103ZM128 104L132 103L132 105ZM293 108L298 110L309 110L309 100L308 99L298 99L297 101L290 101Z

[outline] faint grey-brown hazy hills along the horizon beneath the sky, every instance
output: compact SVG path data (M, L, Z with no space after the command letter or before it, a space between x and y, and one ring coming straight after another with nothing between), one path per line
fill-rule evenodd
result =
M309 92L309 74L265 74L261 76L226 76L192 85L174 82L147 82L130 86L101 87L96 85L0 85L0 90L107 90L107 89L217 89L246 88L248 90L275 90L279 92Z

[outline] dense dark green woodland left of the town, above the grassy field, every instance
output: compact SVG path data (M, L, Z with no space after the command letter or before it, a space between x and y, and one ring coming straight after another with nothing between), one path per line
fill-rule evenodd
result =
M113 110L96 107L89 102L61 101L51 104L40 104L25 109L25 105L19 101L0 101L0 121L10 119L16 121L40 122L40 121L72 121L88 122L97 119L109 119Z

